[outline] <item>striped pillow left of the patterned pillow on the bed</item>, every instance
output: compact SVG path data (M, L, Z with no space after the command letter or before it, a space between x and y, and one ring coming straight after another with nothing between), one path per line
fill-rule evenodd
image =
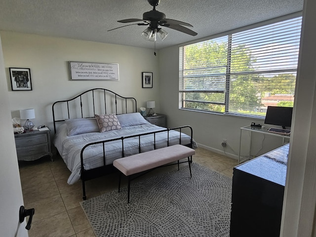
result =
M100 131L95 118L73 118L65 119L65 121L67 124L67 136Z

